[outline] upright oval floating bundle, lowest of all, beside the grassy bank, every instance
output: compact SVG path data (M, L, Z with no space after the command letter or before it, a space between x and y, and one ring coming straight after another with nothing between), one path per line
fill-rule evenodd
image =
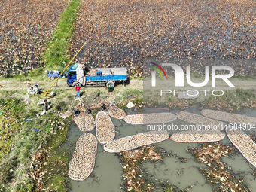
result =
M97 139L92 133L85 133L78 139L72 160L69 162L69 178L83 181L89 177L96 160L97 144Z

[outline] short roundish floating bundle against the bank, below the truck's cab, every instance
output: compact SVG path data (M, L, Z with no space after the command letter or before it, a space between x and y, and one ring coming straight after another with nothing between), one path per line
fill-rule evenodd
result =
M73 120L81 131L91 131L95 127L95 120L92 114L81 112L78 116L73 116Z

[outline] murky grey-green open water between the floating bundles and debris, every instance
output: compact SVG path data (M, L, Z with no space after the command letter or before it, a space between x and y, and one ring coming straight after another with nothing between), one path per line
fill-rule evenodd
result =
M126 111L128 114L134 114L134 111ZM156 112L156 111L154 111ZM199 111L194 111L194 113L199 114ZM256 117L256 110L246 111L249 116ZM145 126L133 126L125 123L123 120L116 120L111 118L114 125L116 126L116 139L123 136L130 136L136 133L145 132ZM172 122L178 126L184 124L181 120L175 120ZM166 123L166 124L172 124ZM188 123L186 123L188 124ZM245 131L246 133L254 133L255 131ZM93 130L92 133L95 133ZM70 155L75 148L75 142L78 140L79 136L84 134L81 132L75 123L72 123L69 130L69 142L62 145L66 151L69 151ZM227 137L221 141L224 144L230 143ZM186 152L187 148L197 147L197 143L178 143L173 142L171 139L167 139L164 142L156 144L157 147L161 147L172 154L178 154L179 157L187 159L186 163L182 163L176 157L164 157L163 162L150 163L146 161L143 163L143 169L147 172L148 176L154 177L154 182L157 184L157 180L169 181L170 184L180 187L184 190L186 187L192 187L191 192L207 192L212 191L212 187L203 178L198 169L200 167L206 167L203 163L194 162L194 158L191 154ZM256 188L256 177L253 175L256 173L256 169L249 164L241 154L236 154L230 158L224 157L222 159L228 166L231 166L233 172L236 175L243 177L245 179L245 184L253 190ZM123 191L121 187L122 183L122 169L120 166L120 160L117 154L111 154L105 152L102 145L98 145L98 151L96 156L96 164L93 169L92 175L85 181L72 181L71 179L71 190L72 192L87 191L87 192L117 192ZM154 191L160 191L156 189Z

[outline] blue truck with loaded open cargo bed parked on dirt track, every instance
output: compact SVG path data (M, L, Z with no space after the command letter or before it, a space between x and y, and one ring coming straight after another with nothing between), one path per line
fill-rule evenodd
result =
M67 75L67 84L69 87L76 85L83 87L106 86L115 87L116 84L127 84L128 76L126 67L123 68L93 68L83 75L84 81L77 79L77 69L75 65L70 66ZM98 74L97 74L98 72ZM100 74L100 75L99 75Z

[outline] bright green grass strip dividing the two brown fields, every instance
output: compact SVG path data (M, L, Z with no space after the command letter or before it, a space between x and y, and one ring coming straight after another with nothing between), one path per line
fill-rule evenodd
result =
M53 39L44 52L44 66L48 69L61 68L69 63L69 50L79 3L79 0L72 0L60 17Z

